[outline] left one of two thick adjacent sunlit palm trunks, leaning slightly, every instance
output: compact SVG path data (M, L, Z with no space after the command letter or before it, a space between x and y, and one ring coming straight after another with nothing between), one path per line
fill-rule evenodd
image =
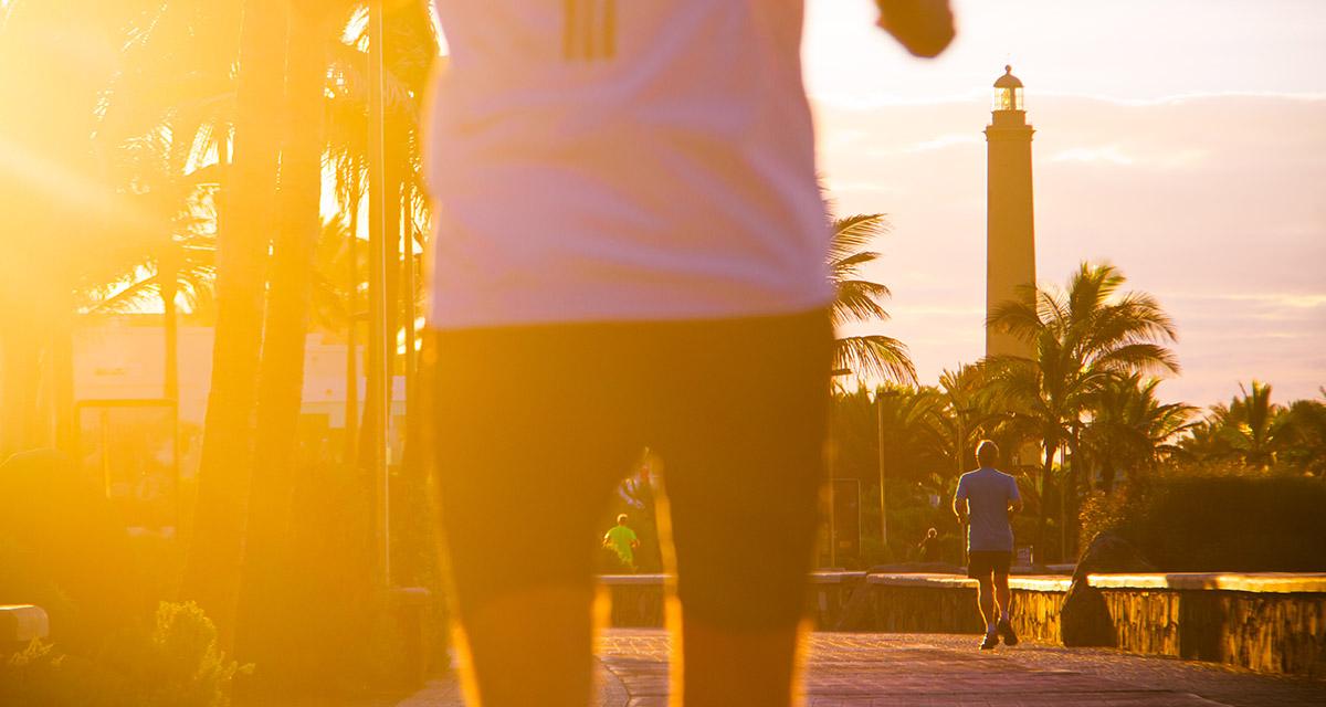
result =
M199 467L194 537L180 586L216 622L229 646L253 460L253 411L271 215L280 153L285 3L248 0L240 38L235 159L223 190L227 228L217 235L212 385Z

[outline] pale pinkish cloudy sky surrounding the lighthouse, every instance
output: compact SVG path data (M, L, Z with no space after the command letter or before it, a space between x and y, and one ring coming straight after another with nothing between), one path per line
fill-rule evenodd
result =
M1162 397L1278 402L1326 385L1326 1L955 0L911 58L869 0L809 0L804 61L838 214L884 212L869 275L923 383L984 348L991 84L1036 127L1037 277L1109 261L1176 320Z

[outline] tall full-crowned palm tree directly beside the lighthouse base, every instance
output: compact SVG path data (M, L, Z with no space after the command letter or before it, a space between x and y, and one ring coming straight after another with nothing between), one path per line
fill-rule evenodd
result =
M1143 292L1120 293L1126 279L1115 267L1083 263L1066 289L1021 289L1017 300L997 305L988 325L1026 342L1030 355L987 359L994 390L1016 420L1041 439L1041 497L1054 476L1054 458L1075 448L1083 415L1098 391L1116 374L1177 373L1179 362L1164 346L1175 341L1174 321ZM1061 513L1077 484L1059 488ZM1048 513L1037 523L1045 543ZM1061 531L1066 532L1061 523ZM1061 548L1061 553L1063 548Z

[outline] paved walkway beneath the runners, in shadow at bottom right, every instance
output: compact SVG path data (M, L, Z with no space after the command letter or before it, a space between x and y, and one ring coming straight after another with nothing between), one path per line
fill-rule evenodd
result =
M809 707L1270 707L1326 704L1326 680L1257 675L1113 650L1024 642L981 653L979 637L817 633L806 671ZM659 630L599 641L601 707L667 704L668 639ZM460 707L453 680L398 707Z

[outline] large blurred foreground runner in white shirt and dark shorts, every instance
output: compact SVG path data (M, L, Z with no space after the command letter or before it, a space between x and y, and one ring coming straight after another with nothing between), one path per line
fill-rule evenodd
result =
M471 698L589 702L594 523L648 446L672 699L789 704L834 294L801 0L434 4L428 326ZM912 53L952 38L945 0L879 5Z

